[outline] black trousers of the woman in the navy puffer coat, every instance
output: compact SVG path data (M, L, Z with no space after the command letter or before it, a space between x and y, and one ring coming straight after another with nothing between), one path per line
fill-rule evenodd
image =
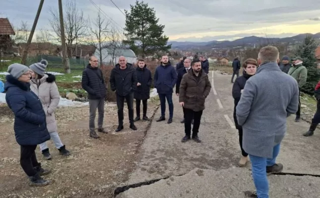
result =
M38 166L35 150L37 145L20 146L20 165L29 176L34 176L37 172L34 167Z

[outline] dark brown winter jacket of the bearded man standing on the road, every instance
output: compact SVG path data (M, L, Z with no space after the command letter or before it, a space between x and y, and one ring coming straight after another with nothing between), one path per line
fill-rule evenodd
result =
M200 79L197 81L193 70L182 77L180 84L179 102L184 102L184 107L193 111L201 111L205 108L205 99L211 91L211 83L208 75L201 70Z

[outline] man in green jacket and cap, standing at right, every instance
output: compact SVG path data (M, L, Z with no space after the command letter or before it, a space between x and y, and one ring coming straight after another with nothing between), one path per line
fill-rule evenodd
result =
M288 74L292 76L296 81L298 82L299 85L299 107L298 111L296 113L296 122L300 121L300 109L301 109L301 103L300 103L300 91L302 86L304 86L307 82L307 68L302 65L302 58L300 56L297 56L293 59L293 66L289 69Z

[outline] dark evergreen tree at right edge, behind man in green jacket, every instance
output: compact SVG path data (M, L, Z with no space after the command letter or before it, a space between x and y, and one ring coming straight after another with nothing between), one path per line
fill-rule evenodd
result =
M318 43L311 36L307 36L301 46L299 46L296 55L303 60L303 65L308 70L307 83L302 87L302 92L313 95L315 87L320 80L320 74L317 69L317 59L315 57L315 50Z

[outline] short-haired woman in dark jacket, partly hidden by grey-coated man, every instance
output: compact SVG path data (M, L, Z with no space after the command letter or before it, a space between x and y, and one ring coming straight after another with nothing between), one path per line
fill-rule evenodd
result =
M239 131L239 143L242 152L242 157L239 161L239 166L246 166L248 162L248 153L242 148L242 126L238 124L237 116L236 116L236 107L241 98L242 90L245 88L247 80L256 74L257 62L253 58L248 58L242 65L244 68L244 72L242 76L239 76L233 84L232 88L232 97L235 99L235 107L233 110L233 119L236 124L236 129Z

